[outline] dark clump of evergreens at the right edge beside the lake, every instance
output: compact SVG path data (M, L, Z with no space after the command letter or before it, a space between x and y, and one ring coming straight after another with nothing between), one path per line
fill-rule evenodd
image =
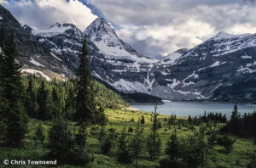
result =
M256 143L256 111L241 115L235 105L230 122L223 128L223 132L231 132L239 137L254 137Z

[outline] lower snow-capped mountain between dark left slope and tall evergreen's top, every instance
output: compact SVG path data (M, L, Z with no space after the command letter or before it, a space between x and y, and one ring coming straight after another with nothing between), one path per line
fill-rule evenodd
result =
M55 24L45 30L32 30L38 42L50 49L55 58L61 59L75 71L79 66L79 53L84 34L73 24Z

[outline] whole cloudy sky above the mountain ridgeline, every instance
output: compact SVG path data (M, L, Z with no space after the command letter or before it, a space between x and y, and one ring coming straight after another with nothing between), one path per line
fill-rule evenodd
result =
M0 0L21 25L45 29L58 21L81 31L108 20L138 53L159 58L194 48L216 34L256 33L255 0Z

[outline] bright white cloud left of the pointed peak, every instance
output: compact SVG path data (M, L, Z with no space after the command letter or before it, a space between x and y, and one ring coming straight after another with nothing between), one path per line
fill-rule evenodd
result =
M78 0L10 0L0 1L21 25L45 29L54 22L73 23L81 31L97 18Z

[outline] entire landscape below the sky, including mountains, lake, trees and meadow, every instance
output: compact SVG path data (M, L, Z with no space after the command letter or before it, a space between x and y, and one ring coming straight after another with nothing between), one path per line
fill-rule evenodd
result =
M256 167L256 34L152 59L103 17L22 24L0 4L0 167Z

